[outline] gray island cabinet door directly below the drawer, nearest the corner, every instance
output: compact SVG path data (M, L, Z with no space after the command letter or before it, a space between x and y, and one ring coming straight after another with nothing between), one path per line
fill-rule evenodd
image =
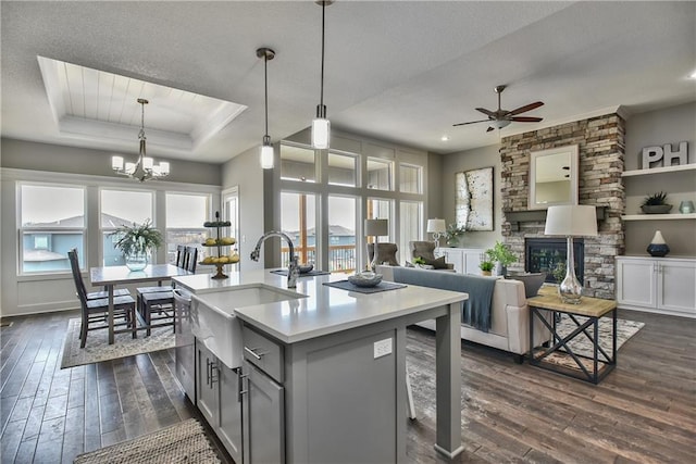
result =
M285 462L284 389L245 360L245 464Z

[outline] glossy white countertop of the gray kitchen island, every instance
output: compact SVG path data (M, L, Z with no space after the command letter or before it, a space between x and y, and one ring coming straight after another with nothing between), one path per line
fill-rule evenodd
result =
M210 274L174 277L173 280L177 287L184 287L217 311L234 314L285 343L414 314L469 298L467 293L418 286L359 293L323 285L345 280L345 274L299 277L297 288L288 289L287 277L272 274L271 271L233 272L229 278L219 280L211 279ZM258 284L296 291L307 298L243 308L235 308L233 298L225 300L220 294L211 294L207 299L207 293Z

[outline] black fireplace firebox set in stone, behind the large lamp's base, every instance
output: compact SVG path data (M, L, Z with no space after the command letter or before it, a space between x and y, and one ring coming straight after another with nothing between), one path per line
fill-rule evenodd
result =
M546 281L558 284L554 269L560 262L566 268L568 241L564 238L527 238L524 240L524 271L529 273L546 273ZM582 238L573 239L575 256L575 276L584 285L585 243Z

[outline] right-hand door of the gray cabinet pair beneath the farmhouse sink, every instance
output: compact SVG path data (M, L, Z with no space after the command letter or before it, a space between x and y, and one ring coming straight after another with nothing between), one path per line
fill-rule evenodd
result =
M217 437L232 459L241 464L241 396L239 369L220 363L220 426Z

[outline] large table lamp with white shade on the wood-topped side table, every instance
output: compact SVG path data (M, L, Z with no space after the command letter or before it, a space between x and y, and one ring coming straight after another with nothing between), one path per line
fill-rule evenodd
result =
M558 294L563 303L579 304L583 286L575 277L573 237L597 235L597 210L589 205L548 206L544 235L562 235L568 239L566 278L558 286Z

